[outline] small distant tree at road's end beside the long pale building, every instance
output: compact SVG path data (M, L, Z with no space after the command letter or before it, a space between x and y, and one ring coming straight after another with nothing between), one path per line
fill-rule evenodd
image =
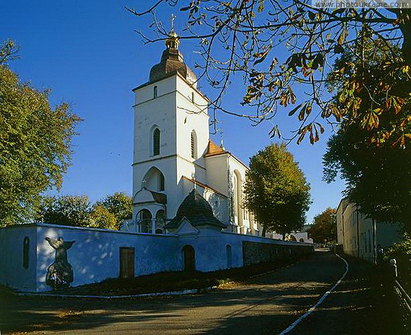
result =
M314 216L314 225L308 230L308 234L315 243L332 242L337 240L336 210L327 208Z

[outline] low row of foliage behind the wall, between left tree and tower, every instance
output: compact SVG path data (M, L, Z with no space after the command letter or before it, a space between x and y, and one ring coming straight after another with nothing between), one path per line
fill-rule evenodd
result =
M132 199L125 193L114 193L91 204L86 195L42 197L36 219L57 225L118 230L132 217Z

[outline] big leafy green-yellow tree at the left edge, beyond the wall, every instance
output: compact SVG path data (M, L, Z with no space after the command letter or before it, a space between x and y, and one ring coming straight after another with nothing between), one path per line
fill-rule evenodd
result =
M49 90L18 81L14 52L10 41L0 49L0 226L29 221L40 193L60 188L80 121L67 103L51 108Z

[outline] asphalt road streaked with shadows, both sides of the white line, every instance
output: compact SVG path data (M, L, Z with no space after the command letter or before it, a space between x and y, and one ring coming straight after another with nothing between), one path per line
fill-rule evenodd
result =
M393 327L373 267L349 260L345 280L288 334L405 334ZM201 295L125 300L0 295L1 334L279 334L345 272L331 252ZM386 320L385 316L388 321Z

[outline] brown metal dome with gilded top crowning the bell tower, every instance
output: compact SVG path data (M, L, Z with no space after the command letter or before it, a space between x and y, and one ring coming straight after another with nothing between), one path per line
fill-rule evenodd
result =
M163 51L160 63L155 64L150 70L150 82L156 82L172 73L179 73L197 88L197 77L194 72L184 63L184 58L178 50L179 38L171 29L169 37L166 39L166 49Z

